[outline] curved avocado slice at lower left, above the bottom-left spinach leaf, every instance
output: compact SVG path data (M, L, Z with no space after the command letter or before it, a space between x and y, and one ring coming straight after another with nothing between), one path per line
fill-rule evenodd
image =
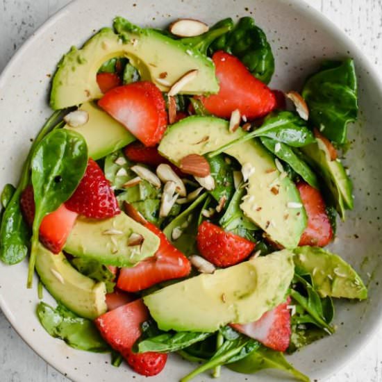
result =
M40 244L35 267L49 293L72 312L89 319L106 312L105 283L76 271L63 253L52 254Z

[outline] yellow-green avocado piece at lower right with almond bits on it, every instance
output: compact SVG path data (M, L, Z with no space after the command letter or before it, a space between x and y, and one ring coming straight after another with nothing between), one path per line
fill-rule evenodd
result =
M294 249L297 269L311 274L313 285L322 297L367 299L367 288L357 272L342 260L319 247Z

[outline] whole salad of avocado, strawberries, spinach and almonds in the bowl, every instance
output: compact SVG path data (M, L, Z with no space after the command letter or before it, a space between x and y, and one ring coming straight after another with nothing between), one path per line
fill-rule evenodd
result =
M0 258L28 257L37 315L76 349L137 373L281 369L335 333L333 299L367 298L324 249L354 206L342 165L357 117L351 58L272 90L251 17L166 30L116 17L53 76L54 110L1 194ZM42 301L43 288L57 306Z

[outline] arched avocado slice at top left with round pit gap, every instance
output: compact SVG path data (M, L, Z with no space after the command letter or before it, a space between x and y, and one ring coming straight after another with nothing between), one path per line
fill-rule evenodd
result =
M156 83L163 92L192 69L199 72L181 93L204 94L219 90L213 62L197 50L153 29L133 26L122 17L115 19L114 26L119 35L111 28L103 28L81 49L72 47L63 56L53 77L51 108L58 110L101 98L97 71L105 61L122 56L138 69L142 81ZM160 79L164 73L165 78Z

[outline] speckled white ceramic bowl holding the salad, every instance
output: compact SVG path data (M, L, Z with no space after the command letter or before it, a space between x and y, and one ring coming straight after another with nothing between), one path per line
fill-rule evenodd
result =
M136 3L134 3L136 1ZM381 83L363 54L331 22L297 0L77 0L52 17L24 44L0 78L0 188L17 182L26 153L44 119L50 75L72 45L81 45L94 31L122 15L142 26L166 26L177 17L213 23L224 17L251 15L264 29L276 59L272 88L299 90L307 74L326 58L354 57L359 79L360 115L349 128L347 164L354 179L356 208L340 224L333 249L360 272L369 285L369 299L336 304L335 335L315 342L288 359L312 381L324 379L360 351L376 330L382 313L381 269ZM26 290L26 261L0 265L0 306L19 335L53 367L74 381L121 381L131 370L110 365L110 356L76 351L51 338L35 315L36 288ZM368 275L371 275L371 279ZM35 287L37 285L35 280ZM44 300L52 302L47 292ZM203 317L200 317L203 319ZM194 365L174 356L151 381L178 381ZM220 381L281 381L275 374L234 374L224 369ZM207 375L199 381L208 379ZM146 381L135 374L135 381Z

